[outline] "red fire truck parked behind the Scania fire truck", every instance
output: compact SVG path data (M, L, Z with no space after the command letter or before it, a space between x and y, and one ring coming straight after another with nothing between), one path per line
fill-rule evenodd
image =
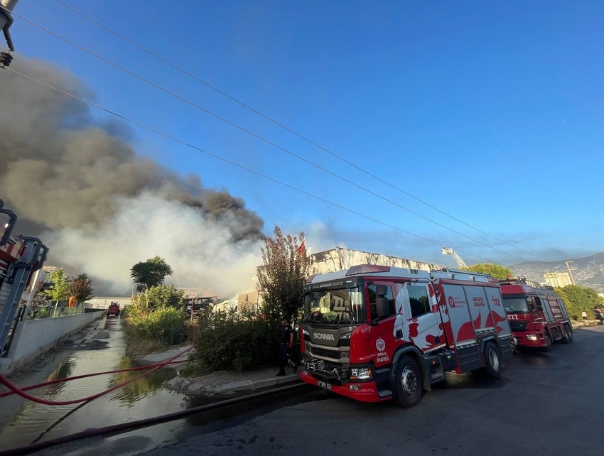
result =
M512 333L520 347L551 349L552 342L573 342L573 326L554 288L527 278L500 281L503 305Z

